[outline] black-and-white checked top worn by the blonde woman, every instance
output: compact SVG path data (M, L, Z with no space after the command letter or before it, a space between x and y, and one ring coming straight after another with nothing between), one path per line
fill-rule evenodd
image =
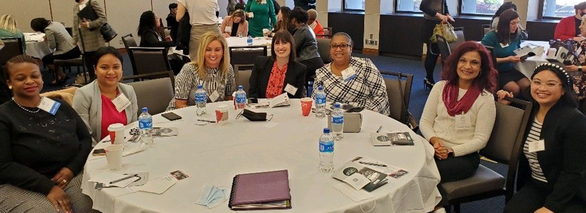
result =
M197 85L203 83L203 89L207 93L207 102L211 102L210 95L217 90L219 97L216 102L223 101L226 95L231 96L236 91L234 69L230 69L226 75L220 74L220 69L206 68L206 78L200 79L197 75L197 66L192 63L183 65L179 74L175 77L175 99L187 100L187 106L195 105L195 92ZM167 110L175 109L175 99L171 100Z

